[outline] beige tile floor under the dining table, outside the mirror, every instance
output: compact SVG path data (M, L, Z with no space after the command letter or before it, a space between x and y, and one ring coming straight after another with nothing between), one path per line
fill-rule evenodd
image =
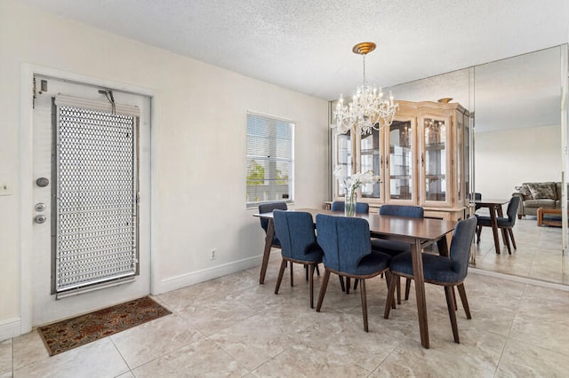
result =
M157 295L171 315L51 358L35 331L0 342L0 377L569 374L569 291L470 272L465 287L472 319L458 312L456 344L444 290L428 285L426 350L413 290L410 301L383 319L385 281L368 280L366 334L359 290L342 293L334 276L320 313L309 308L298 265L295 286L285 274L275 295L279 260L278 252L271 256L265 285L254 268Z

